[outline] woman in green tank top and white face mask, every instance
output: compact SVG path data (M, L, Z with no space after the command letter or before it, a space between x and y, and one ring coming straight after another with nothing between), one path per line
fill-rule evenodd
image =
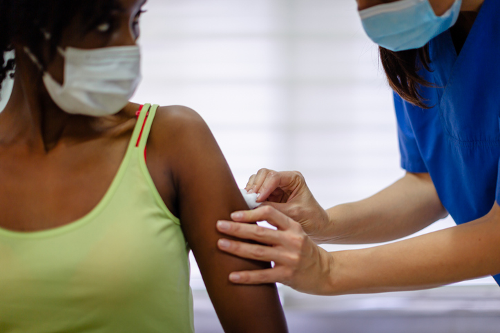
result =
M224 330L287 331L275 285L226 279L270 265L215 246L248 207L204 121L128 103L144 2L0 0L1 332L192 332L189 248Z

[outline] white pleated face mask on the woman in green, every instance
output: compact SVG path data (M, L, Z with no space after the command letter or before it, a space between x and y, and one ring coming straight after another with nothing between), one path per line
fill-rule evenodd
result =
M30 50L26 53L39 63ZM70 114L103 117L122 110L141 79L139 46L58 49L64 57L64 83L48 72L44 84L52 100Z

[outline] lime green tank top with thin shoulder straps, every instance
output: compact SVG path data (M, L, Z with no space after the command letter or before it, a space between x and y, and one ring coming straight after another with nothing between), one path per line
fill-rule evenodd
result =
M90 213L51 230L0 229L0 332L194 332L189 248L144 161L156 110L142 108Z

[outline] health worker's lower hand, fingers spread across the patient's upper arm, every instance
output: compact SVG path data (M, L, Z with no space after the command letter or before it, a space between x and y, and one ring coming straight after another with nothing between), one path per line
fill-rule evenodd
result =
M231 217L238 222L218 221L219 232L265 245L220 239L218 248L242 258L273 261L274 267L232 272L230 281L244 284L280 282L303 292L323 292L329 279L330 255L309 239L298 222L269 205L235 212ZM278 230L247 224L262 220Z

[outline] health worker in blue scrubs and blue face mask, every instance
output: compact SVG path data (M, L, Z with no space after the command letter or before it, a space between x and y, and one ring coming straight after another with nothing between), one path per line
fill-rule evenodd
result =
M358 8L395 92L407 173L368 199L323 210L300 173L260 170L247 190L263 207L234 212L218 230L267 246L218 246L275 265L233 272L233 283L278 281L334 295L500 273L500 1L358 0ZM315 244L391 241L448 214L456 227L396 243L340 252ZM250 223L262 220L278 230Z

